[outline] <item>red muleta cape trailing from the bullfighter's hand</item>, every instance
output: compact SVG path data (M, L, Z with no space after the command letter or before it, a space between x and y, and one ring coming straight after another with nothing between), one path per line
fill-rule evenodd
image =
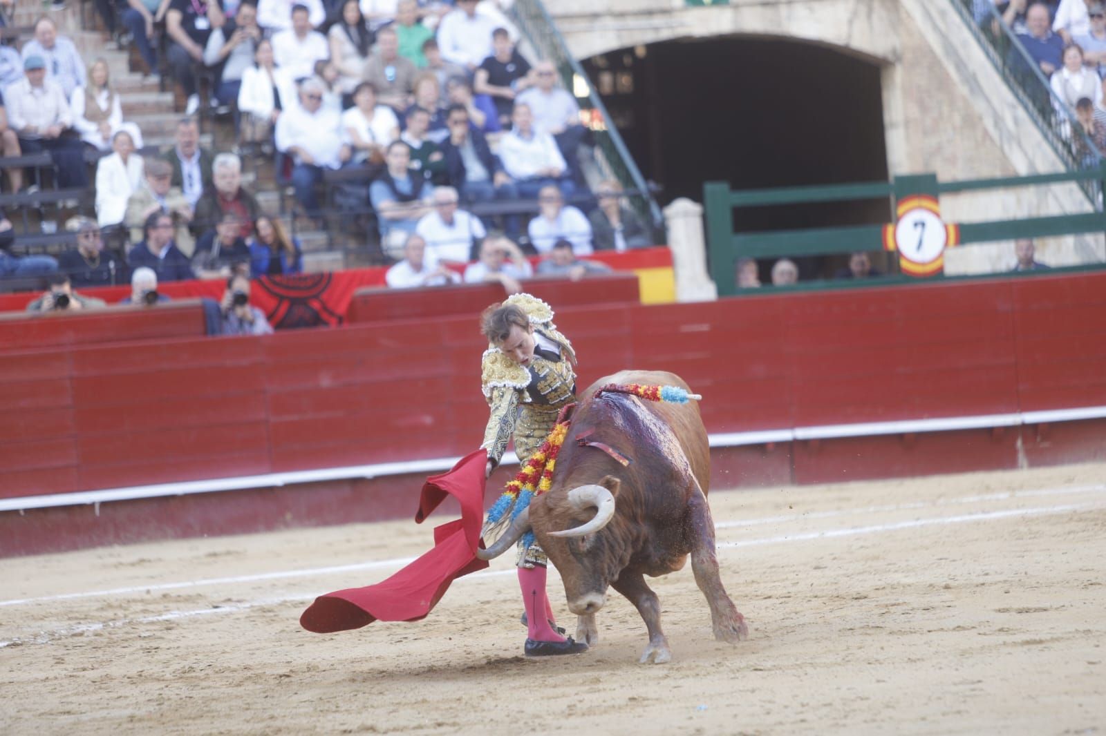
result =
M483 524L487 450L461 458L452 470L426 480L415 522L421 524L447 495L461 505L461 518L434 529L434 548L383 582L347 588L315 599L300 625L315 633L359 629L377 619L418 621L430 612L457 578L488 567L477 559Z

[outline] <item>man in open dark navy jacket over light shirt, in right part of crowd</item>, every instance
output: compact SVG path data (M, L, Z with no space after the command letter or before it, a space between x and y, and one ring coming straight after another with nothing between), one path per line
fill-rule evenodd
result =
M469 125L469 114L453 105L446 115L449 137L441 144L446 162L446 180L467 202L510 202L519 199L511 177L503 170L499 157L491 153L483 134ZM518 238L519 215L503 219L508 236Z

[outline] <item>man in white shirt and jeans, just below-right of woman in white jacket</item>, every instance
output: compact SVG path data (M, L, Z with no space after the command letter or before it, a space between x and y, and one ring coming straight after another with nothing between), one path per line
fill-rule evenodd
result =
M338 169L349 158L351 149L340 136L338 114L323 107L324 85L314 77L300 84L300 104L285 109L276 120L276 149L292 157L292 186L295 198L307 217L319 220L315 185L323 169Z

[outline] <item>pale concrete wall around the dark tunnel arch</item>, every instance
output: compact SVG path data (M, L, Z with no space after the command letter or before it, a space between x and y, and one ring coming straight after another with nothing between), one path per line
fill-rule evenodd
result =
M580 59L660 41L778 36L816 43L883 69L887 162L893 175L933 171L941 180L1062 171L1062 161L957 14L952 0L559 0L546 7ZM1089 211L1074 186L982 191L942 198L951 222ZM1103 238L1039 243L1055 265L1106 260ZM958 249L948 273L1012 265L1010 243Z

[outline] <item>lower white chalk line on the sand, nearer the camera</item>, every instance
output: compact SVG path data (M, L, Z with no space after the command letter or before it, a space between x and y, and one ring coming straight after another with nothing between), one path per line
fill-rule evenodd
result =
M1091 486L1084 486L1084 488ZM1092 487L1093 488L1093 487ZM1073 488L1074 491L1074 488ZM1042 495L1042 494L1039 494ZM1044 495L1055 495L1055 494L1044 494ZM1002 494L1002 497L1010 497L1010 494ZM797 534L797 535L782 535L773 537L763 537L760 539L745 539L740 542L728 542L719 545L720 549L732 549L737 547L752 547L759 545L770 545L780 544L785 542L807 542L814 539L833 539L846 536L858 536L867 534L877 534L884 532L898 532L901 529L917 528L924 526L938 526L938 525L950 525L950 524L963 524L968 522L988 522L995 519L1015 518L1015 517L1030 517L1030 516L1050 516L1058 514L1070 514L1087 511L1099 511L1106 508L1106 504L1102 503L1091 503L1091 504L1065 504L1060 506L1039 506L1034 508L1010 508L993 512L979 512L975 514L960 514L957 516L936 516L922 519L909 519L905 522L891 522L888 524L875 524L869 526L860 527L849 527L849 528L838 528L838 529L826 529L822 532L813 532L808 534ZM379 567L389 564L401 564L404 560L382 560L376 562L375 566ZM362 567L362 566L341 566L342 570L351 567ZM331 569L331 568L320 568L320 569ZM306 572L306 571L296 571ZM491 577L513 575L513 569L508 570L486 570L478 572L473 576L468 576L461 578L458 582L472 582ZM299 577L295 576L295 577ZM271 579L271 576L267 579ZM191 581L195 585L199 585L200 581ZM144 588L138 588L136 590L145 590ZM262 608L268 606L281 606L293 602L307 601L314 598L315 595L295 595L295 596L284 596L280 598L268 598L259 599L253 601L247 601L243 603L226 604L226 606L215 606L204 609L195 609L190 611L167 611L166 613L159 613L157 616L149 616L136 619L121 619L116 621L105 621L95 622L88 624L81 624L75 627L66 627L62 629L56 629L54 631L42 632L33 639L11 639L7 641L0 641L0 649L10 646L12 644L44 644L49 643L59 637L70 637L76 634L88 633L93 631L100 631L103 629L115 629L128 624L136 623L156 623L163 621L175 621L180 619L189 619L196 617L210 616L213 613L234 613L239 611L249 610L252 608ZM43 600L43 599L35 599Z

